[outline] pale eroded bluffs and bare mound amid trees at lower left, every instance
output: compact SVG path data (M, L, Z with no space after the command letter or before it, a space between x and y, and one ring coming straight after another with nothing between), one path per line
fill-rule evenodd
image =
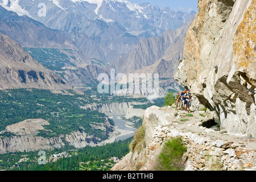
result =
M89 135L84 131L72 131L71 134L61 134L52 138L38 137L39 130L45 130L44 125L49 125L49 122L44 119L27 119L7 126L5 131L0 132L0 134L3 134L0 137L0 154L54 150L67 144L75 148L83 148L85 146L96 146L102 142L100 138ZM90 125L93 129L105 131L107 136L111 135L114 131L108 117L105 118L104 123L92 123ZM5 137L6 132L13 134L13 136Z

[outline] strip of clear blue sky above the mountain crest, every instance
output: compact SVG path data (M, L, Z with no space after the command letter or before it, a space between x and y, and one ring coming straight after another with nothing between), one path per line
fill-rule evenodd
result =
M196 11L197 12L197 0L129 0L135 3L148 2L151 5L157 5L161 9L163 7L170 7L174 11L183 11L185 13Z

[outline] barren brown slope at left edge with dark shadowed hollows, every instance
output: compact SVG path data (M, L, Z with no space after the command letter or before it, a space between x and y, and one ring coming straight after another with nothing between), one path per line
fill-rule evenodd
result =
M0 89L71 89L63 79L43 67L21 46L0 34Z

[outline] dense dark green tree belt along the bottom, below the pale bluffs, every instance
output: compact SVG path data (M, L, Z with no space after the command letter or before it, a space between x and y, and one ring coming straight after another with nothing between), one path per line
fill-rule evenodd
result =
M117 157L121 159L123 156L125 156L129 152L129 143L131 142L131 139L132 138L129 138L126 140L120 140L118 142L106 144L104 146L97 146L97 147L87 146L85 148L80 148L79 150L76 150L76 155L72 155L71 157L66 157L66 158L60 158L56 162L51 162L44 165L38 164L36 160L34 163L31 163L31 161L23 162L23 163L20 163L18 167L9 168L9 170L13 170L13 171L79 171L80 163L88 163L88 162L98 162L98 164L100 164L101 166L104 166L104 163L100 162L101 160L105 160L105 163L109 163L109 160L106 160L106 159L110 159L112 157ZM50 154L52 154L52 152ZM0 155L0 159L1 159L1 155ZM97 167L93 169L97 169ZM103 169L109 170L109 168L102 168L102 170Z

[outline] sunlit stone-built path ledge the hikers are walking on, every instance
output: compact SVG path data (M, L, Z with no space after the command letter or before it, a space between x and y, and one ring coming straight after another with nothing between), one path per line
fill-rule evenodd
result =
M143 119L144 146L129 152L112 170L155 170L163 143L175 137L181 137L187 148L185 171L256 170L255 138L204 127L214 116L209 110L192 114L170 106L149 107Z

